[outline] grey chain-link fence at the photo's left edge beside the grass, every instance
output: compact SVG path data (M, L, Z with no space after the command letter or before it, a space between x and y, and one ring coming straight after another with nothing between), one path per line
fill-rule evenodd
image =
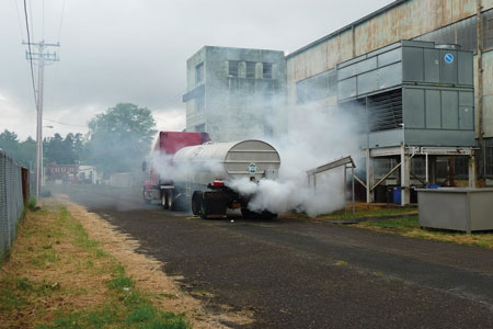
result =
M28 171L0 150L0 264L15 239L15 225L28 198Z

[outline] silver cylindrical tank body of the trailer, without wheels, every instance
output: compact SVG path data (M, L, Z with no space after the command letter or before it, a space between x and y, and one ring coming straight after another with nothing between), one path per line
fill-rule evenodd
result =
M208 184L216 179L276 178L280 157L270 144L249 139L184 147L174 155L173 162L186 170L194 183Z

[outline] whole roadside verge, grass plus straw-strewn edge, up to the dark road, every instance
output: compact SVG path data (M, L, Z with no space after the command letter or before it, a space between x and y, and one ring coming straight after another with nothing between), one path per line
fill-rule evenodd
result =
M162 262L139 254L139 243L64 195L43 201L19 227L11 258L0 269L0 327L158 326L226 328L244 314L209 314L181 291ZM168 327L170 326L170 327Z

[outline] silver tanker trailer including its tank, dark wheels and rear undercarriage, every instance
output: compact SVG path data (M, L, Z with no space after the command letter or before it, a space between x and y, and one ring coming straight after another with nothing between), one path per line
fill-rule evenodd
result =
M276 179L280 158L270 144L250 139L184 147L174 155L173 163L186 172L175 186L191 197L194 215L203 219L225 218L227 208L241 208L245 218L276 216L250 211L253 195L242 195L225 184L242 178L255 182Z

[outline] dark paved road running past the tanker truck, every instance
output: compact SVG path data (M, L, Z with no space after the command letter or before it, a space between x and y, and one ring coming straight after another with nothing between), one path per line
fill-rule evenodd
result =
M231 327L493 328L493 250L297 219L200 220L131 193L72 192L210 311L253 311L253 325Z

